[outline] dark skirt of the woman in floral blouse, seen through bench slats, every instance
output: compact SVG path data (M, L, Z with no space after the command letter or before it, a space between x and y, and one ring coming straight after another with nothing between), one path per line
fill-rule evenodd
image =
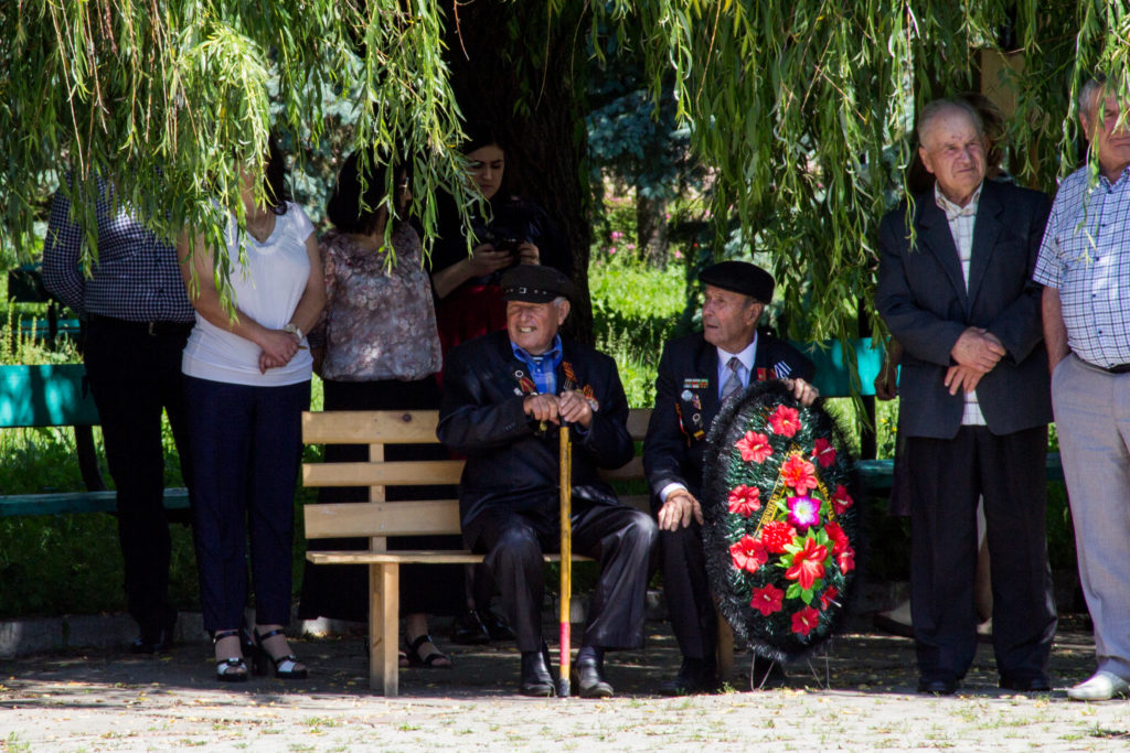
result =
M334 382L327 379L327 411L437 410L440 387L432 377L418 382ZM386 461L449 459L441 445L385 445ZM367 445L327 445L325 462L342 463L368 459ZM385 499L454 499L458 490L450 485L388 487ZM319 502L362 501L368 498L365 487L322 488ZM310 550L365 550L367 539L322 539L308 542ZM460 536L398 536L389 539L389 550L462 549ZM298 616L334 620L368 620L368 568L363 564L323 564L306 562L302 581ZM400 566L400 613L452 615L467 608L463 568L459 564Z

